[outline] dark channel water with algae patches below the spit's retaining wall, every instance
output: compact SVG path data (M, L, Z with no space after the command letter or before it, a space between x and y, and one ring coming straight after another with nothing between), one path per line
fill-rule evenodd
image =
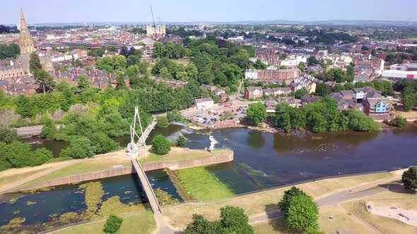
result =
M163 170L146 173L153 188L160 187L169 192L176 199L181 199L169 176ZM143 191L136 174L91 180L84 183L100 181L104 195L102 202L110 197L118 196L123 204L147 203L148 199ZM12 218L25 218L23 226L30 228L52 221L53 217L68 212L81 214L86 211L86 194L75 185L61 185L45 192L13 192L0 195L0 226L6 225Z

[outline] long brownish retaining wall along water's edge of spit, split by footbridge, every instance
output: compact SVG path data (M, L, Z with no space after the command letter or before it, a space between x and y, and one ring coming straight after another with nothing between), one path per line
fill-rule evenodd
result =
M187 161L179 161L175 163L171 162L160 162L160 163L148 163L143 164L143 171L152 171L162 168L169 168L170 170L180 170L185 168L192 168L196 166L206 166L211 164L221 164L228 161L233 161L233 153L230 154L221 154L218 156L211 156L209 158L202 158L202 159L191 159ZM98 180L102 178L109 178L113 176L123 176L131 173L136 173L134 168L131 166L125 166L122 168L112 168L105 171L95 171L91 173L84 173L74 176L66 176L63 178L58 178L55 180L49 180L47 182L37 183L35 185L30 185L28 187L24 187L24 190L33 190L41 187L52 187L57 185L67 185L70 183L78 183L88 180Z

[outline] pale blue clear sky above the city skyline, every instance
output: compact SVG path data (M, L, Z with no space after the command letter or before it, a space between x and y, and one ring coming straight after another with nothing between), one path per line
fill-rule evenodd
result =
M409 20L417 0L4 0L0 24L237 20Z

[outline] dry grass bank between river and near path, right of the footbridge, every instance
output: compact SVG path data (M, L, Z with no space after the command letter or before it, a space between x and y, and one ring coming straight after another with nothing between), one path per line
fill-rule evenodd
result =
M189 176L199 178L201 175L190 173ZM394 173L347 176L326 180L316 180L315 182L297 185L297 187L300 187L300 189L317 199L331 192L347 190L348 188L356 187L358 185L375 183L375 181L387 180L389 178L394 178L394 176ZM206 191L201 190L201 196L206 196L203 193L213 189L216 190L216 188L207 189ZM168 223L172 226L184 228L192 219L192 214L203 214L206 218L215 220L219 216L220 208L225 205L242 207L242 209L245 209L245 213L249 216L254 214L266 214L267 211L276 211L278 209L277 203L281 197L283 197L283 192L288 189L289 187L281 187L274 190L266 190L249 195L221 199L215 202L169 205L164 207L164 215L167 218ZM225 193L225 195L229 195L224 191L223 186L219 186L217 190L218 194Z

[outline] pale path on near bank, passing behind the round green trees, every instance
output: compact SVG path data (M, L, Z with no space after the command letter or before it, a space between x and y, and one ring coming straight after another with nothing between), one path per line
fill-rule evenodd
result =
M316 199L315 202L317 203L318 207L326 207L326 206L336 205L341 202L346 202L352 199L358 199L361 197L377 195L381 192L387 192L389 190L399 191L402 189L401 186L382 187L380 185L399 180L400 178L401 176L396 176L395 178L391 178L385 181L380 181L378 183L372 183L370 185L360 185L358 187L354 187L352 191L336 192L334 194L327 195L326 197ZM253 225L255 223L262 223L262 222L270 221L270 220L281 218L281 217L283 217L282 211L271 212L269 214L260 214L260 215L249 217L249 224Z

